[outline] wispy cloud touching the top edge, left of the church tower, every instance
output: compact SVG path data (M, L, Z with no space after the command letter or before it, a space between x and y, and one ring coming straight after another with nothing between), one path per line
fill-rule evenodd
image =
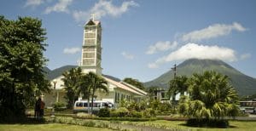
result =
M69 13L67 7L73 2L73 0L59 0L54 6L48 7L45 9L44 13L49 14L51 12L65 12Z

